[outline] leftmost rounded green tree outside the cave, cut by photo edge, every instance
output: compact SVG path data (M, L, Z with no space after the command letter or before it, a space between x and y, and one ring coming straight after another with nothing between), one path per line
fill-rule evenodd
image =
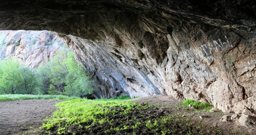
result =
M35 72L18 59L0 61L0 94L38 94Z

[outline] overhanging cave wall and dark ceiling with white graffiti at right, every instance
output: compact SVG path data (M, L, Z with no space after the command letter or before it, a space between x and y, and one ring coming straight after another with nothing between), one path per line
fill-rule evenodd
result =
M0 8L2 30L57 32L99 83L95 96L163 94L255 114L255 1L28 0Z

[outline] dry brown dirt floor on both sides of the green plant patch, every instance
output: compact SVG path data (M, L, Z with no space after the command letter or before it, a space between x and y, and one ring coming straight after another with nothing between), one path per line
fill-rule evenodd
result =
M193 127L200 127L200 129L195 130L202 130L203 134L256 134L256 129L240 126L236 122L220 121L222 116L227 115L221 111L208 113L184 109L180 101L171 96L157 95L131 100L139 103L147 102L156 106L164 106L165 109L180 115L180 117L188 117L191 119ZM40 130L39 127L43 124L43 119L52 115L52 112L56 110L55 104L58 102L61 102L61 100L0 102L0 135L38 134L37 131ZM202 115L209 117L200 119L199 116ZM184 127L180 128L188 127L184 125ZM211 132L206 132L206 130Z

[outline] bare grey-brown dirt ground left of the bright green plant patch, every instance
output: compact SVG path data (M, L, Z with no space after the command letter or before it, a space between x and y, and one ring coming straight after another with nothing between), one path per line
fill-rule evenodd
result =
M0 135L21 135L36 132L42 126L43 119L47 116L50 117L52 112L56 110L55 104L58 102L61 100L0 102Z

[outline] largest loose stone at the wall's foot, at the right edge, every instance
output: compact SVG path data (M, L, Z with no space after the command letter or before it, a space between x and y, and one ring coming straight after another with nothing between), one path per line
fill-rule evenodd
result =
M241 125L249 128L249 127L256 127L256 117L252 117L250 115L243 114L237 121Z

